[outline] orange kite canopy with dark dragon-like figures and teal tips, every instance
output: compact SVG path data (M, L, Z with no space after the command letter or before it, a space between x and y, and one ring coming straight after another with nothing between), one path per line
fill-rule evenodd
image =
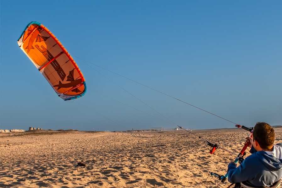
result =
M66 101L85 94L86 83L80 69L44 25L30 22L19 37L18 44L59 97Z

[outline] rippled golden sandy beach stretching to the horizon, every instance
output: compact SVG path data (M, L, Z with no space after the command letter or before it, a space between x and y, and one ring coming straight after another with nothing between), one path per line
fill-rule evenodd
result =
M193 133L235 153L249 134L240 129ZM281 143L282 128L275 133L275 143ZM217 180L209 172L224 175L235 156L221 149L212 155L210 149L185 131L0 133L0 187L212 188Z

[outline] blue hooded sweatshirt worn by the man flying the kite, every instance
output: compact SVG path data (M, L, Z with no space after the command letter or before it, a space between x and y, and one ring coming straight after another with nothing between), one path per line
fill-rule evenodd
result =
M253 186L271 186L282 177L282 143L273 146L273 151L256 151L254 148L241 165L228 165L230 183L246 182Z

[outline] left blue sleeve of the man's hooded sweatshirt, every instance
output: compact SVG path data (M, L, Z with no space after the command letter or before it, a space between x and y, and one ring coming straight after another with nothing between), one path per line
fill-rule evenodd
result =
M230 183L239 183L254 177L252 163L250 157L247 157L237 168L234 163L230 163L228 165L228 181Z

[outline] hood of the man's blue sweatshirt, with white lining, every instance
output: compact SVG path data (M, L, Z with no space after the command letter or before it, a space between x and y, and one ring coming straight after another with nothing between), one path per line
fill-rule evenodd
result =
M271 171L282 170L282 147L273 146L273 151L256 152L258 159Z

